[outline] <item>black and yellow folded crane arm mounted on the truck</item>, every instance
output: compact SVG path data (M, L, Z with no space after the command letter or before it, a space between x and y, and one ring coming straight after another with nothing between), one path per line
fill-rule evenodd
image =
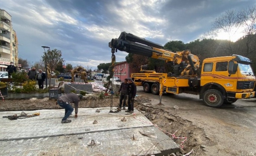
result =
M126 32L122 32L119 38L112 39L108 46L111 48L112 54L120 50L171 62L176 65L174 69L178 75L197 75L199 68L199 58L191 54L189 50L172 52L165 50L158 43Z

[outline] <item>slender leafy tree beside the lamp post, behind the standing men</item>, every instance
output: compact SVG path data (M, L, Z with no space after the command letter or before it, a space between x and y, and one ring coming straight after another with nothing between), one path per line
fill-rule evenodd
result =
M51 71L53 71L53 69L56 68L57 64L63 60L61 56L62 56L61 50L57 50L57 49L54 49L54 50L48 49L47 52L45 52L44 55L42 56L43 61L44 62L46 61L46 63L48 64L48 67L50 68L49 84L51 84Z

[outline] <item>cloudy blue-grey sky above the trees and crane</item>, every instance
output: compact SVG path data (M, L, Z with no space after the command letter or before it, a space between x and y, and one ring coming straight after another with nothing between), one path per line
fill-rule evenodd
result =
M44 49L62 51L66 63L93 69L111 62L108 42L122 31L164 45L198 39L225 10L255 0L0 0L12 16L19 57L41 59ZM222 39L223 39L222 35ZM118 51L116 61L128 53Z

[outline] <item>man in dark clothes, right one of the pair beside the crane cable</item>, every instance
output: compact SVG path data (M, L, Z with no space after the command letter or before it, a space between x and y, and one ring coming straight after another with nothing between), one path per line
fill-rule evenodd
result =
M128 78L128 110L125 112L133 113L134 98L136 96L137 88L133 83L132 78Z

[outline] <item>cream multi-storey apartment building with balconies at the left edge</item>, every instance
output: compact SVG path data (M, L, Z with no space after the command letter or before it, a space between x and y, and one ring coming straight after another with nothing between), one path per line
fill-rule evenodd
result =
M12 16L0 9L0 71L13 62L18 67L18 39L12 29Z

